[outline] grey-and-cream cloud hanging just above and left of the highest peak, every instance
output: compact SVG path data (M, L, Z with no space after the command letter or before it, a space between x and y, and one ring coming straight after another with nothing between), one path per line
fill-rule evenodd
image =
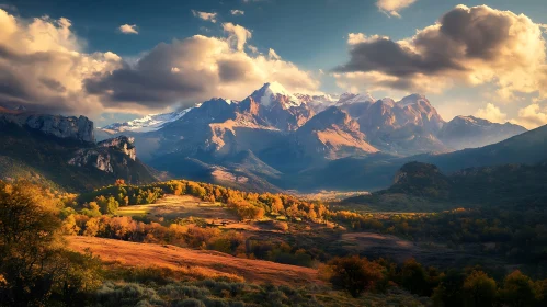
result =
M243 99L264 82L310 92L319 83L309 72L281 58L249 56L229 38L195 35L160 44L134 66L124 64L110 75L90 79L87 90L107 106L145 110L181 106L224 96Z

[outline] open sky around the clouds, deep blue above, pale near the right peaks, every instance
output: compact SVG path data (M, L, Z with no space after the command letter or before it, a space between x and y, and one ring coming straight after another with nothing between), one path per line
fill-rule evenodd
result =
M303 71L309 71L319 82L315 90L323 92L343 92L350 88L350 86L340 87L340 82L331 76L334 68L351 59L349 54L351 46L346 43L349 33L363 33L367 36L377 34L389 36L397 42L412 37L417 30L433 25L457 4L469 8L486 4L493 10L511 11L515 15L524 14L536 24L547 23L547 5L544 0L417 0L409 1L413 3L398 11L400 18L380 12L377 2L375 0L0 0L0 3L3 3L0 8L26 22L44 15L48 15L52 20L66 18L71 22L71 32L78 37L82 53L112 52L127 62L137 61L158 44L169 44L174 38L184 39L196 34L226 37L223 25L232 23L243 26L252 34L252 37L247 39L247 45L258 47L263 54L267 54L270 48L274 49L284 61L294 64ZM244 11L244 14L232 15L231 10ZM216 13L216 22L202 20L195 16L193 11ZM118 27L123 24L135 24L138 34L121 33ZM545 35L543 37L545 38ZM535 53L535 50L529 52ZM321 75L319 70L326 73ZM442 77L452 78L447 76ZM491 94L500 89L500 84L456 83L440 91L430 91L425 88L377 89L373 84L361 82L358 89L353 87L353 90L372 89L371 91L378 98L383 95L400 98L406 93L422 90L445 120L451 120L459 113L467 115L475 114L479 110L487 112L488 104L492 104L501 114L505 114L498 117L492 115L491 120L498 121L517 121L521 110L531 105L534 107L527 111L532 112L534 109L535 115L539 114L538 118L533 118L534 123L540 123L544 118L542 116L547 113L544 112L545 95L542 93L536 94L531 90L526 93L518 91L517 99L512 96L508 101L502 101L503 99ZM124 105L127 107L130 104ZM161 104L162 107L166 105ZM95 121L106 123L137 116L135 114L122 116L123 113L132 113L123 112L123 107L106 110L109 111L104 114L114 113L116 116L93 115Z

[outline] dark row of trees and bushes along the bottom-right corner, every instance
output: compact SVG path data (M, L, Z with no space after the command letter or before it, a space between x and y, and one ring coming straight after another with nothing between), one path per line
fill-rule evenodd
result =
M495 281L481 268L441 271L424 268L414 259L398 265L352 255L334 258L319 271L323 280L354 297L386 293L398 285L431 297L433 306L547 306L547 280L533 281L518 270Z

